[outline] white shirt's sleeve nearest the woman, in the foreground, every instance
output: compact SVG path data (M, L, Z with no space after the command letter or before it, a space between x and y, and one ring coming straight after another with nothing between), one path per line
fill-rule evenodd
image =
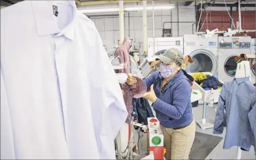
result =
M127 110L125 107L121 87L115 75L115 71L103 47L99 33L95 28L95 43L97 46L97 66L90 71L90 81L93 92L91 97L91 109L97 147L100 159L115 159L114 139L125 124ZM92 99L93 98L93 99Z

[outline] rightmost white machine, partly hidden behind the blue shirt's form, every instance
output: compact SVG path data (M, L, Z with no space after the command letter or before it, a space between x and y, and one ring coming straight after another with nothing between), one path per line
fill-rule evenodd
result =
M236 74L237 63L235 58L240 54L251 53L251 37L219 37L218 73L223 82L232 81ZM251 70L252 82L255 83L255 75Z

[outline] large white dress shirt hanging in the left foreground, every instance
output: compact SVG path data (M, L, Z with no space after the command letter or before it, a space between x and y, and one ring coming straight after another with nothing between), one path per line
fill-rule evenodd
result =
M99 33L75 2L2 9L1 40L16 158L115 159L127 111Z

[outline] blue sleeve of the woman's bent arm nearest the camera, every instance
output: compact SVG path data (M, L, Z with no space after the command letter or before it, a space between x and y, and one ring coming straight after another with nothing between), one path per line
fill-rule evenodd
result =
M172 105L160 100L159 98L153 103L152 107L161 111L163 114L171 118L179 119L183 116L187 104L191 97L191 86L186 79L181 79L174 90Z

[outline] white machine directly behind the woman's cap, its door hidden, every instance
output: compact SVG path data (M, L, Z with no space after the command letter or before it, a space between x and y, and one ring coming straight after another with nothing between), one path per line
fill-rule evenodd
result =
M170 48L176 48L183 53L183 37L155 37L155 53L153 38L148 38L148 57L159 55Z

